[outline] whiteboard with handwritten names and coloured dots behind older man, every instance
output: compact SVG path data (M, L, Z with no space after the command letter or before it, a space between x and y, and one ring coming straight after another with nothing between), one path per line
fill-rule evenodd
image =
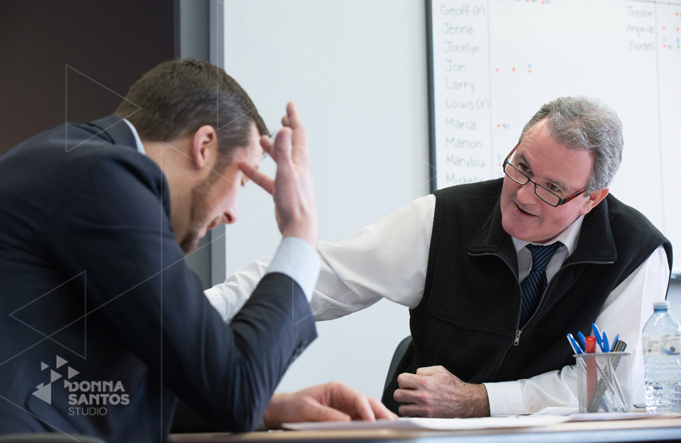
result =
M428 0L426 18L434 189L502 177L542 104L596 97L624 127L611 193L681 247L681 1Z

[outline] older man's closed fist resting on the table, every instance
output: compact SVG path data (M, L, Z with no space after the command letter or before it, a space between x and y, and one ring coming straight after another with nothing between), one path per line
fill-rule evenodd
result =
M489 417L485 385L464 383L443 366L402 373L397 383L394 399L405 417Z

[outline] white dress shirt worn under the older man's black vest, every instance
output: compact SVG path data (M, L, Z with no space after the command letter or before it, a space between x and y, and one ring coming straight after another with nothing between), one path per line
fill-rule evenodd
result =
M315 319L343 317L383 297L410 309L418 306L426 283L435 202L434 195L421 197L338 244L320 241L321 273L311 301ZM579 217L548 243L561 241L564 245L548 263L548 280L575 251L582 220ZM531 269L532 255L524 248L527 242L513 240L519 278L523 279ZM225 321L248 300L268 263L269 258L254 261L225 283L205 291ZM631 351L633 392L643 383L641 329L653 313L653 301L665 299L668 280L667 255L660 246L610 293L596 320L610 337L620 334L626 350ZM567 339L565 346L570 346ZM492 416L532 414L548 406L577 407L574 366L524 380L484 384Z

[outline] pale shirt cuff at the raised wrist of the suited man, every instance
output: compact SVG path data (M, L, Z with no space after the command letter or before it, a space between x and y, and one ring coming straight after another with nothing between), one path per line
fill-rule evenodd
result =
M310 302L320 268L317 251L298 237L286 237L279 244L265 274L278 272L288 275L300 285L307 301Z

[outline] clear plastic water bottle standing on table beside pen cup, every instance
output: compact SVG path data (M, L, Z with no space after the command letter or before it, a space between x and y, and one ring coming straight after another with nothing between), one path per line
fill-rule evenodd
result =
M681 412L681 327L669 302L653 302L653 316L643 327L646 410Z

